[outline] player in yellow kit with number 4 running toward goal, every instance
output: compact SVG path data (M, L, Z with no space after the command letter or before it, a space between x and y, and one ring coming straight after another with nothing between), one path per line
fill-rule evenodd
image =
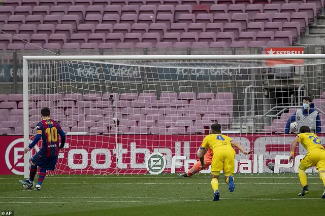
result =
M238 142L235 142L230 137L221 134L220 124L212 124L211 134L207 135L203 139L198 154L202 167L205 166L204 155L206 154L208 147L213 151L211 162L211 186L214 191L213 201L218 201L220 197L218 180L221 170L224 172L224 181L229 185L229 191L233 192L235 189L234 172L236 152L233 147L237 147L245 155L248 155L253 151L245 151Z

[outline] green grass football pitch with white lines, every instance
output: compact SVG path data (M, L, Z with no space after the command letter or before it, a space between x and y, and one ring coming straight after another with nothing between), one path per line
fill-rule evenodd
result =
M309 194L297 174L235 174L233 193L220 176L220 201L210 175L47 176L41 191L23 190L21 176L0 176L0 210L15 215L325 215L318 175ZM37 178L36 178L37 180Z

